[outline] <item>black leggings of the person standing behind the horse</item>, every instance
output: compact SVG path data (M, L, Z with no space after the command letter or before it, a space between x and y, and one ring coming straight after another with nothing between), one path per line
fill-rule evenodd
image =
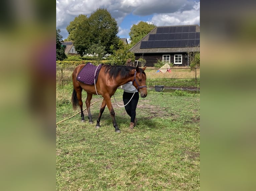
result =
M123 101L124 104L128 103L128 101L131 99L133 93L123 93ZM135 92L135 94L132 97L132 100L126 105L125 110L127 114L131 117L131 122L134 123L134 119L136 117L136 107L139 101L139 93Z

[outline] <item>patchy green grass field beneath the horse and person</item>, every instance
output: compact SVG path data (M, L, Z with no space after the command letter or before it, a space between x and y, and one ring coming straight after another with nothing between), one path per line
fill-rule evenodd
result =
M56 123L79 111L72 110L72 90L56 89ZM132 130L113 99L121 133L115 133L107 107L97 130L80 114L56 125L56 190L200 190L200 95L186 95L148 91L139 99ZM119 105L121 96L118 89ZM94 121L101 100L92 98Z

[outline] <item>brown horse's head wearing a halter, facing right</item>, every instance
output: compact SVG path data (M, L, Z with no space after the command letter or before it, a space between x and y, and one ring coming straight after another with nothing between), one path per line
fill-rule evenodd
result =
M134 80L132 81L133 86L138 90L141 97L147 96L147 86L146 86L146 74L144 70L146 69L146 66L144 68L136 67L136 71L134 74Z

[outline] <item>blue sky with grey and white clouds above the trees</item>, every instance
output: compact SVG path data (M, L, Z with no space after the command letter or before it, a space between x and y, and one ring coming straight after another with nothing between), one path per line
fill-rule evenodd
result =
M63 40L66 27L79 14L88 17L97 8L107 9L118 23L120 38L127 38L140 21L156 26L200 25L200 0L56 0L56 28Z

